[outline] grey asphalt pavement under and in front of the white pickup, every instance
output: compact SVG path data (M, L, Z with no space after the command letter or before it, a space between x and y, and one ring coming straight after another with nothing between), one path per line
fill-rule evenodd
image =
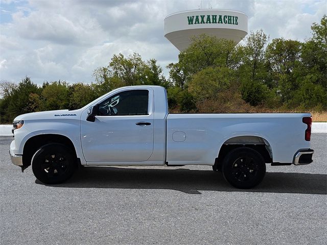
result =
M326 244L327 134L314 162L267 165L256 188L229 186L208 166L84 167L38 182L0 137L0 244Z

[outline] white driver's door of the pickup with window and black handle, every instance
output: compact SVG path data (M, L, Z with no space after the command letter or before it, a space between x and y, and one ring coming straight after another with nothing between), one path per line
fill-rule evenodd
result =
M81 143L87 162L139 162L153 153L153 90L123 90L98 105L95 121L81 117Z

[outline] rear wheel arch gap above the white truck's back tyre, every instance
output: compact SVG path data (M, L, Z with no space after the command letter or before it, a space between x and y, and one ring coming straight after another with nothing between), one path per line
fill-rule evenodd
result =
M273 162L272 149L268 140L260 136L244 135L231 137L225 140L219 149L218 157L215 159L215 165L220 168L220 164L223 162L228 152L244 146L259 152L266 163Z

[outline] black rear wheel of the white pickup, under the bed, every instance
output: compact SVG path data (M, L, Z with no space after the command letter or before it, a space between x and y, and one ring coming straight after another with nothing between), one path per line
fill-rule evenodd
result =
M224 158L222 172L232 186L250 189L263 180L266 163L259 152L247 147L237 148Z

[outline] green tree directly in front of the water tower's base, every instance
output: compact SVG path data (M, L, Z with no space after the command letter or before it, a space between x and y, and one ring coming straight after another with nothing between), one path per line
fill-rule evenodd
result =
M192 44L181 52L177 63L167 66L175 88L168 90L171 104L183 103L195 110L195 103L213 100L235 83L235 70L241 64L244 48L231 40L205 34L192 38ZM187 92L183 92L187 91ZM175 100L172 96L178 97ZM182 108L180 106L179 108Z

